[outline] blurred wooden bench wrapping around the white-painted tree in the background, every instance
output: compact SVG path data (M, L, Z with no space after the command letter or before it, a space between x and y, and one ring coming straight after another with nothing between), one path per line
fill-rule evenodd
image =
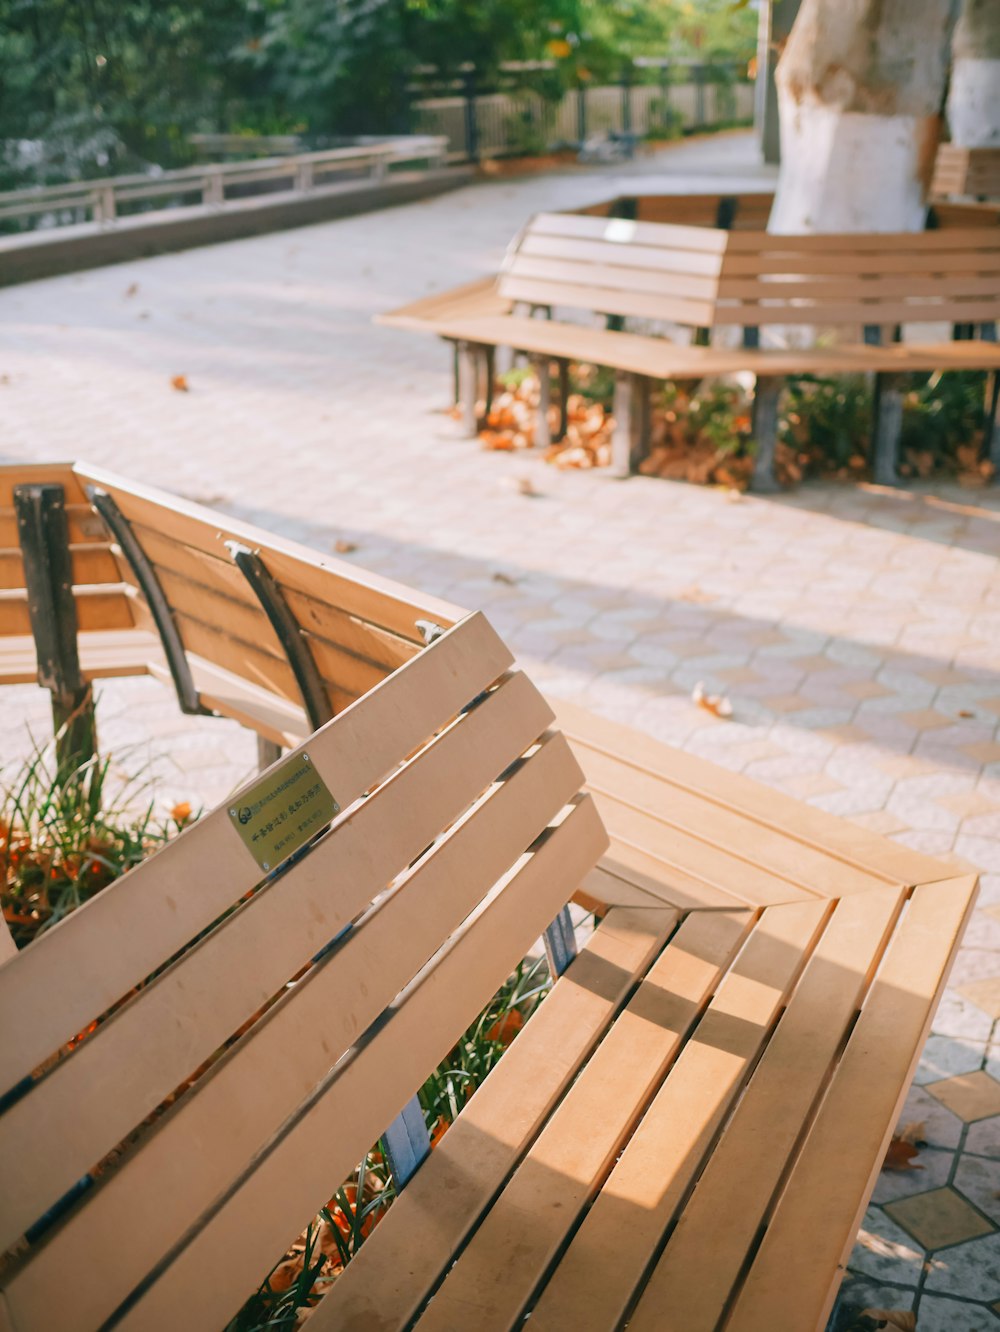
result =
M539 366L537 442L549 436L549 365L561 366L565 430L570 361L617 372L613 469L643 457L648 386L750 372L756 380L755 486L772 490L778 397L790 374L876 376L877 481L896 480L904 376L1000 369L1000 229L949 226L919 234L772 236L543 213L513 242L494 286L415 301L382 322L430 330L459 350L467 433L491 389L487 349L513 346ZM506 302L498 310L497 300ZM573 312L571 318L553 317ZM535 318L535 314L545 318ZM627 332L625 321L640 321ZM900 341L913 325L949 325L951 341ZM795 330L844 328L847 341L795 346ZM763 345L776 329L775 345ZM792 336L787 337L792 330ZM799 334L802 336L802 334ZM784 338L791 345L776 345ZM714 342L714 345L707 345ZM987 453L1000 462L996 380L988 390Z

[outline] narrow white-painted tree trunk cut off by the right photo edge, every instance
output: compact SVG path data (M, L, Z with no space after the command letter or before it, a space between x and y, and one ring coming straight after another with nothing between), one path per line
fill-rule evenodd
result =
M952 141L1000 148L1000 3L964 0L952 43L948 92Z

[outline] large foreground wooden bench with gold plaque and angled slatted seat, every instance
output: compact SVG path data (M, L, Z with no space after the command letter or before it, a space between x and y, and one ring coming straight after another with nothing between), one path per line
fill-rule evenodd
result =
M350 606L366 633L383 598L395 633L446 609L69 473L149 549L157 534L160 571L232 565L221 537L238 531L281 586ZM146 593L105 545L149 633ZM216 595L244 605L237 586ZM170 609L181 634L185 614ZM567 747L483 617L454 614L411 627L402 663L350 699L330 665L341 702L316 734L288 677L237 675L241 638L226 666L188 650L213 702L232 697L220 673L242 682L228 715L272 745L308 739L0 964L0 1095L20 1092L0 1102L17 1249L0 1327L217 1332L382 1134L406 1187L318 1332L513 1328L529 1309L542 1328L770 1332L790 1292L796 1332L824 1325L975 876L559 705ZM240 811L302 781L305 755L340 811L317 806L332 830L288 843L301 854L274 875ZM601 920L575 958L571 898ZM413 1094L546 927L555 987L429 1154Z

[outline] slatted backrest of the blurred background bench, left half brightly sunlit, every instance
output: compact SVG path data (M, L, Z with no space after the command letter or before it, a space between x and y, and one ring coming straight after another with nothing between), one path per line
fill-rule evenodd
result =
M511 301L694 328L1000 318L1000 229L772 236L543 213L505 261Z

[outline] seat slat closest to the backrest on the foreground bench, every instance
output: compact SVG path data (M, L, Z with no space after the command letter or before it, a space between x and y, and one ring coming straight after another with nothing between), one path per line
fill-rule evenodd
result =
M676 922L609 912L313 1313L317 1332L409 1323Z

